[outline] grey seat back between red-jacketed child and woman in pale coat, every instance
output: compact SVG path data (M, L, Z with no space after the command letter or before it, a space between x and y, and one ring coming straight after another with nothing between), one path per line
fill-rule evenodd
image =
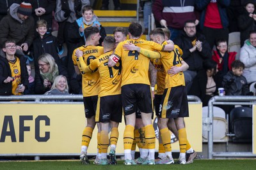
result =
M240 32L230 32L228 34L228 52L237 52L236 60L239 60L240 48Z

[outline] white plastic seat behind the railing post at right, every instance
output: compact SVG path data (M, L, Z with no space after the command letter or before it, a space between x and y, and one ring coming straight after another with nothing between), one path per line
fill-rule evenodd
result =
M203 127L204 120L208 117L208 106L204 106L203 110ZM213 142L227 142L228 124L225 111L219 107L213 106ZM208 141L208 131L203 128L203 142Z

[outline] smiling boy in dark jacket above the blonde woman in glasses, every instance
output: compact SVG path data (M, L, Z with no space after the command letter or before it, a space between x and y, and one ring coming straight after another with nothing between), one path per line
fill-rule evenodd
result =
M57 41L51 33L47 32L47 22L45 20L38 20L36 22L36 32L38 36L33 41L33 56L35 59L35 69L38 70L38 57L43 53L49 53L54 58L58 66L62 66L60 57L58 55Z

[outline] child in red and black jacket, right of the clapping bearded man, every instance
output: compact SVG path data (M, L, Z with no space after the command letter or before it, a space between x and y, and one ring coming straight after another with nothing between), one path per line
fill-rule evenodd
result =
M217 50L213 51L212 60L218 64L218 73L216 74L216 85L221 87L223 76L231 70L231 64L236 59L237 52L228 52L226 39L218 39L216 41ZM219 81L218 81L219 80Z

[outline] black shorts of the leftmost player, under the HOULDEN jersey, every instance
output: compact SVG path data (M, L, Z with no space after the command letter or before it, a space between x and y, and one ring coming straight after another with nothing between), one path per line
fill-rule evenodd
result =
M95 116L98 96L83 97L84 113L86 118Z

